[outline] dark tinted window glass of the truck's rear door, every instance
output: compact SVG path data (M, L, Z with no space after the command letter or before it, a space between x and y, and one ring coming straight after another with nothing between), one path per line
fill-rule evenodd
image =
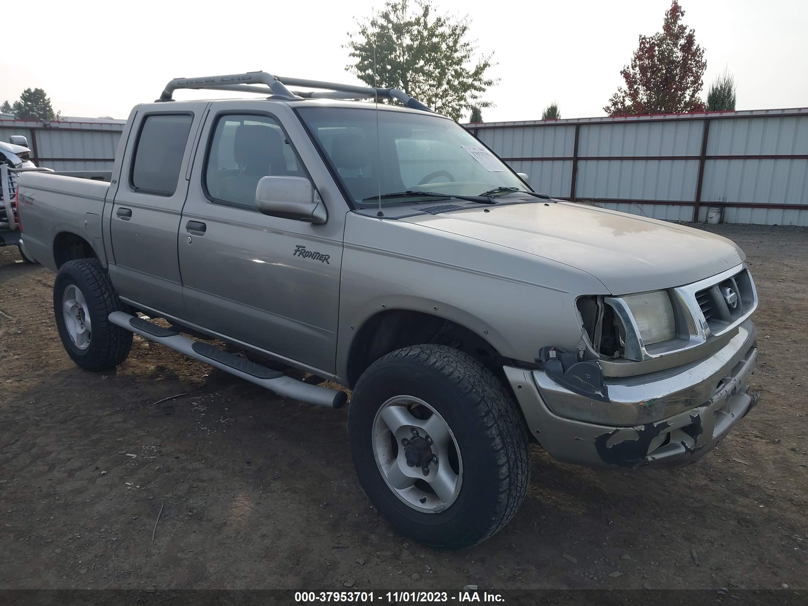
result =
M132 165L135 191L158 196L174 195L191 122L193 116L187 114L146 116Z

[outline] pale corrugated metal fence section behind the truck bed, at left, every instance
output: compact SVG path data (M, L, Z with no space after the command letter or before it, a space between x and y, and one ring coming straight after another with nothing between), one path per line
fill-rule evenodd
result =
M24 135L36 166L53 170L112 170L126 120L64 118L0 120L0 141Z

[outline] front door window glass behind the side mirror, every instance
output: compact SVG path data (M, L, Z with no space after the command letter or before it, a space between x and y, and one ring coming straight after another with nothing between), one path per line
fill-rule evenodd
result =
M268 116L221 116L205 167L208 195L255 208L255 189L266 176L306 176L280 125Z

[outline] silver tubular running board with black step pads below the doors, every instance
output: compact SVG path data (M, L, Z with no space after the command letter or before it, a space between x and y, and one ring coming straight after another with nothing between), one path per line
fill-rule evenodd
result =
M271 389L271 391L280 393L282 396L308 402L309 404L317 404L318 406L328 406L329 408L342 408L347 402L347 393L344 391L297 381L297 379L287 377L282 372L244 360L227 351L221 351L218 347L213 347L208 343L188 339L177 334L174 330L162 328L162 326L157 326L142 318L124 314L122 311L113 311L112 314L109 314L109 321L116 326L135 333L135 335L141 335L144 339L149 339L154 343L161 343L185 354L189 358L210 364L215 368L229 372L231 375L250 381L250 383Z

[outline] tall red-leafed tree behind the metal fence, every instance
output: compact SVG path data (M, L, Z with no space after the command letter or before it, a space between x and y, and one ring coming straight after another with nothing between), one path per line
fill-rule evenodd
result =
M680 20L684 11L676 0L665 13L663 31L640 36L631 65L621 70L621 86L609 99L609 116L701 112L701 86L707 68L705 51L696 32Z

